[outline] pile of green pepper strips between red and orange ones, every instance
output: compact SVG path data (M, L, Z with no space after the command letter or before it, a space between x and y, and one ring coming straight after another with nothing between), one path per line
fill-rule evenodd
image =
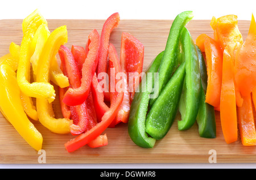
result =
M185 25L193 18L192 11L176 16L171 25L166 48L159 53L146 71L138 88L147 91L135 93L130 109L128 131L133 142L143 148L152 148L170 130L179 111L179 130L187 130L195 122L199 135L216 137L213 106L205 102L207 67L200 49L194 44ZM158 97L152 96L154 79L149 73L158 72ZM146 84L143 84L146 83Z

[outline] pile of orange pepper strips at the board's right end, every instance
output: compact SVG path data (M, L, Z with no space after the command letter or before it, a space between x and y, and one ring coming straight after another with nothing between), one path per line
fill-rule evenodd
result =
M212 18L214 38L201 34L196 44L205 53L208 87L205 102L220 111L226 143L256 145L253 104L256 105L256 23L252 15L243 42L236 15ZM238 118L237 118L238 110ZM239 125L239 126L238 126ZM239 129L238 129L239 127ZM238 131L239 130L239 131Z

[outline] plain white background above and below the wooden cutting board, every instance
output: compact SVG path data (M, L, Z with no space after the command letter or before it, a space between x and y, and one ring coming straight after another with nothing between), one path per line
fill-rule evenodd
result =
M228 14L238 20L256 15L255 0L42 0L1 1L0 19L24 19L36 8L46 19L106 19L119 12L121 19L174 19L182 11L193 11L193 19L212 19ZM0 27L1 28L1 27ZM1 153L1 152L0 152ZM0 162L1 163L1 162ZM255 168L255 164L90 164L90 165L10 165L0 168Z

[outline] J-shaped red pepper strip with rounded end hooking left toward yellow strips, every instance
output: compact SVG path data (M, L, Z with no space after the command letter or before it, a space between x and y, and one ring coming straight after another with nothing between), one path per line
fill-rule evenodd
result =
M88 36L88 48L89 52L85 59L85 63L82 66L82 78L80 87L69 88L65 93L63 102L69 106L81 105L88 97L90 91L90 84L94 72L98 65L98 47L100 44L100 36L96 29Z

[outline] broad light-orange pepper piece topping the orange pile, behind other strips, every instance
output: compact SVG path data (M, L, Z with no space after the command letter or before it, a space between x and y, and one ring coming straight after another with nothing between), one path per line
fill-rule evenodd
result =
M226 15L218 19L212 18L210 22L211 27L214 30L214 40L221 45L222 50L226 47L229 50L229 54L232 58L233 66L236 63L237 50L243 44L242 34L238 29L236 15ZM236 90L236 102L237 106L242 106L243 99L239 88L237 87L236 79L234 79L234 85Z

